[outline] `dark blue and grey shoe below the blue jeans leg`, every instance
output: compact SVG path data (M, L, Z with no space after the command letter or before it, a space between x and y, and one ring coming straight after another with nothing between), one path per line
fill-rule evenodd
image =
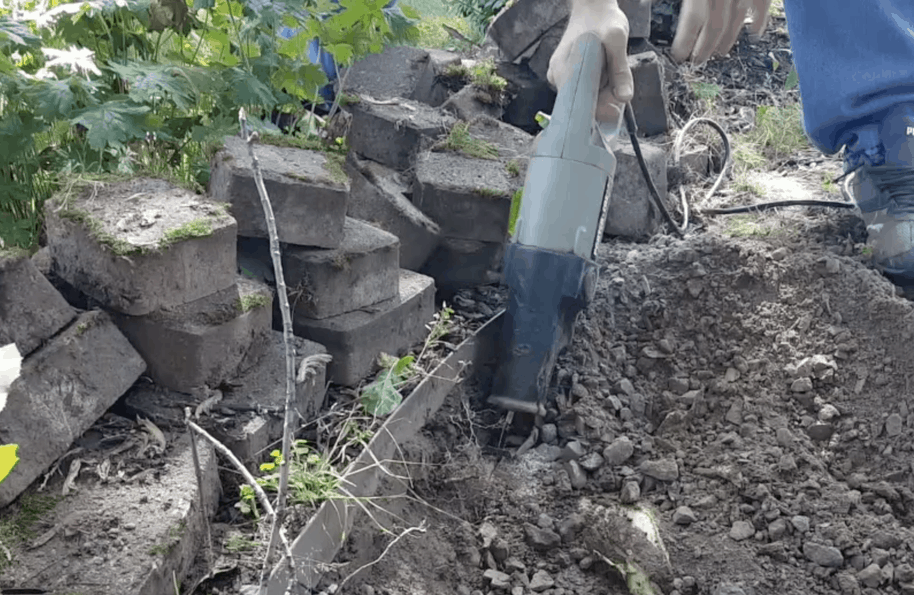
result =
M845 173L860 209L876 266L914 286L914 104L890 109L878 124L854 131Z

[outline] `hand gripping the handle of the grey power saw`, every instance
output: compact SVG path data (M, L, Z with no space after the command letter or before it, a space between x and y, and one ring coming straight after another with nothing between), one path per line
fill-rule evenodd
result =
M628 19L615 0L572 0L568 27L549 60L546 77L556 89L562 88L574 72L573 44L578 37L589 31L603 40L606 54L596 117L600 122L615 122L625 103L634 95L632 71L627 56Z

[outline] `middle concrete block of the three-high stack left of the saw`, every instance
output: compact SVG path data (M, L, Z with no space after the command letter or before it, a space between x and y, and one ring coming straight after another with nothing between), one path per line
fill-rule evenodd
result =
M399 254L397 236L349 217L336 250L286 246L282 267L296 316L320 320L397 296Z

